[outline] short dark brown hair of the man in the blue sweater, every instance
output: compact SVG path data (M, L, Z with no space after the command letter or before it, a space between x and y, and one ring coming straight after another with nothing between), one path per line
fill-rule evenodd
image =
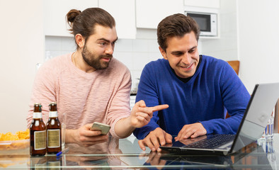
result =
M193 30L195 38L198 41L200 36L200 28L190 16L176 13L164 18L157 27L157 41L160 47L166 51L166 40L175 36L183 37L186 33Z

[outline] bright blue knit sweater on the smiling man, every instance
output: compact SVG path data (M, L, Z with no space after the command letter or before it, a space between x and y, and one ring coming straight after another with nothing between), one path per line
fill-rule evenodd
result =
M223 60L203 55L186 83L176 77L167 60L149 62L142 71L136 101L144 100L149 107L169 104L169 108L154 112L149 124L137 128L134 135L142 140L158 127L178 135L183 125L198 122L207 134L235 134L249 99L244 84ZM227 111L231 117L224 119Z

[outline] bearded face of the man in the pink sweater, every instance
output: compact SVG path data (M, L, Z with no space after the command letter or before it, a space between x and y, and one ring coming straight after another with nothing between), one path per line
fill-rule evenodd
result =
M94 69L106 69L113 57L115 42L118 39L115 27L96 25L94 34L90 35L81 55L84 62Z

